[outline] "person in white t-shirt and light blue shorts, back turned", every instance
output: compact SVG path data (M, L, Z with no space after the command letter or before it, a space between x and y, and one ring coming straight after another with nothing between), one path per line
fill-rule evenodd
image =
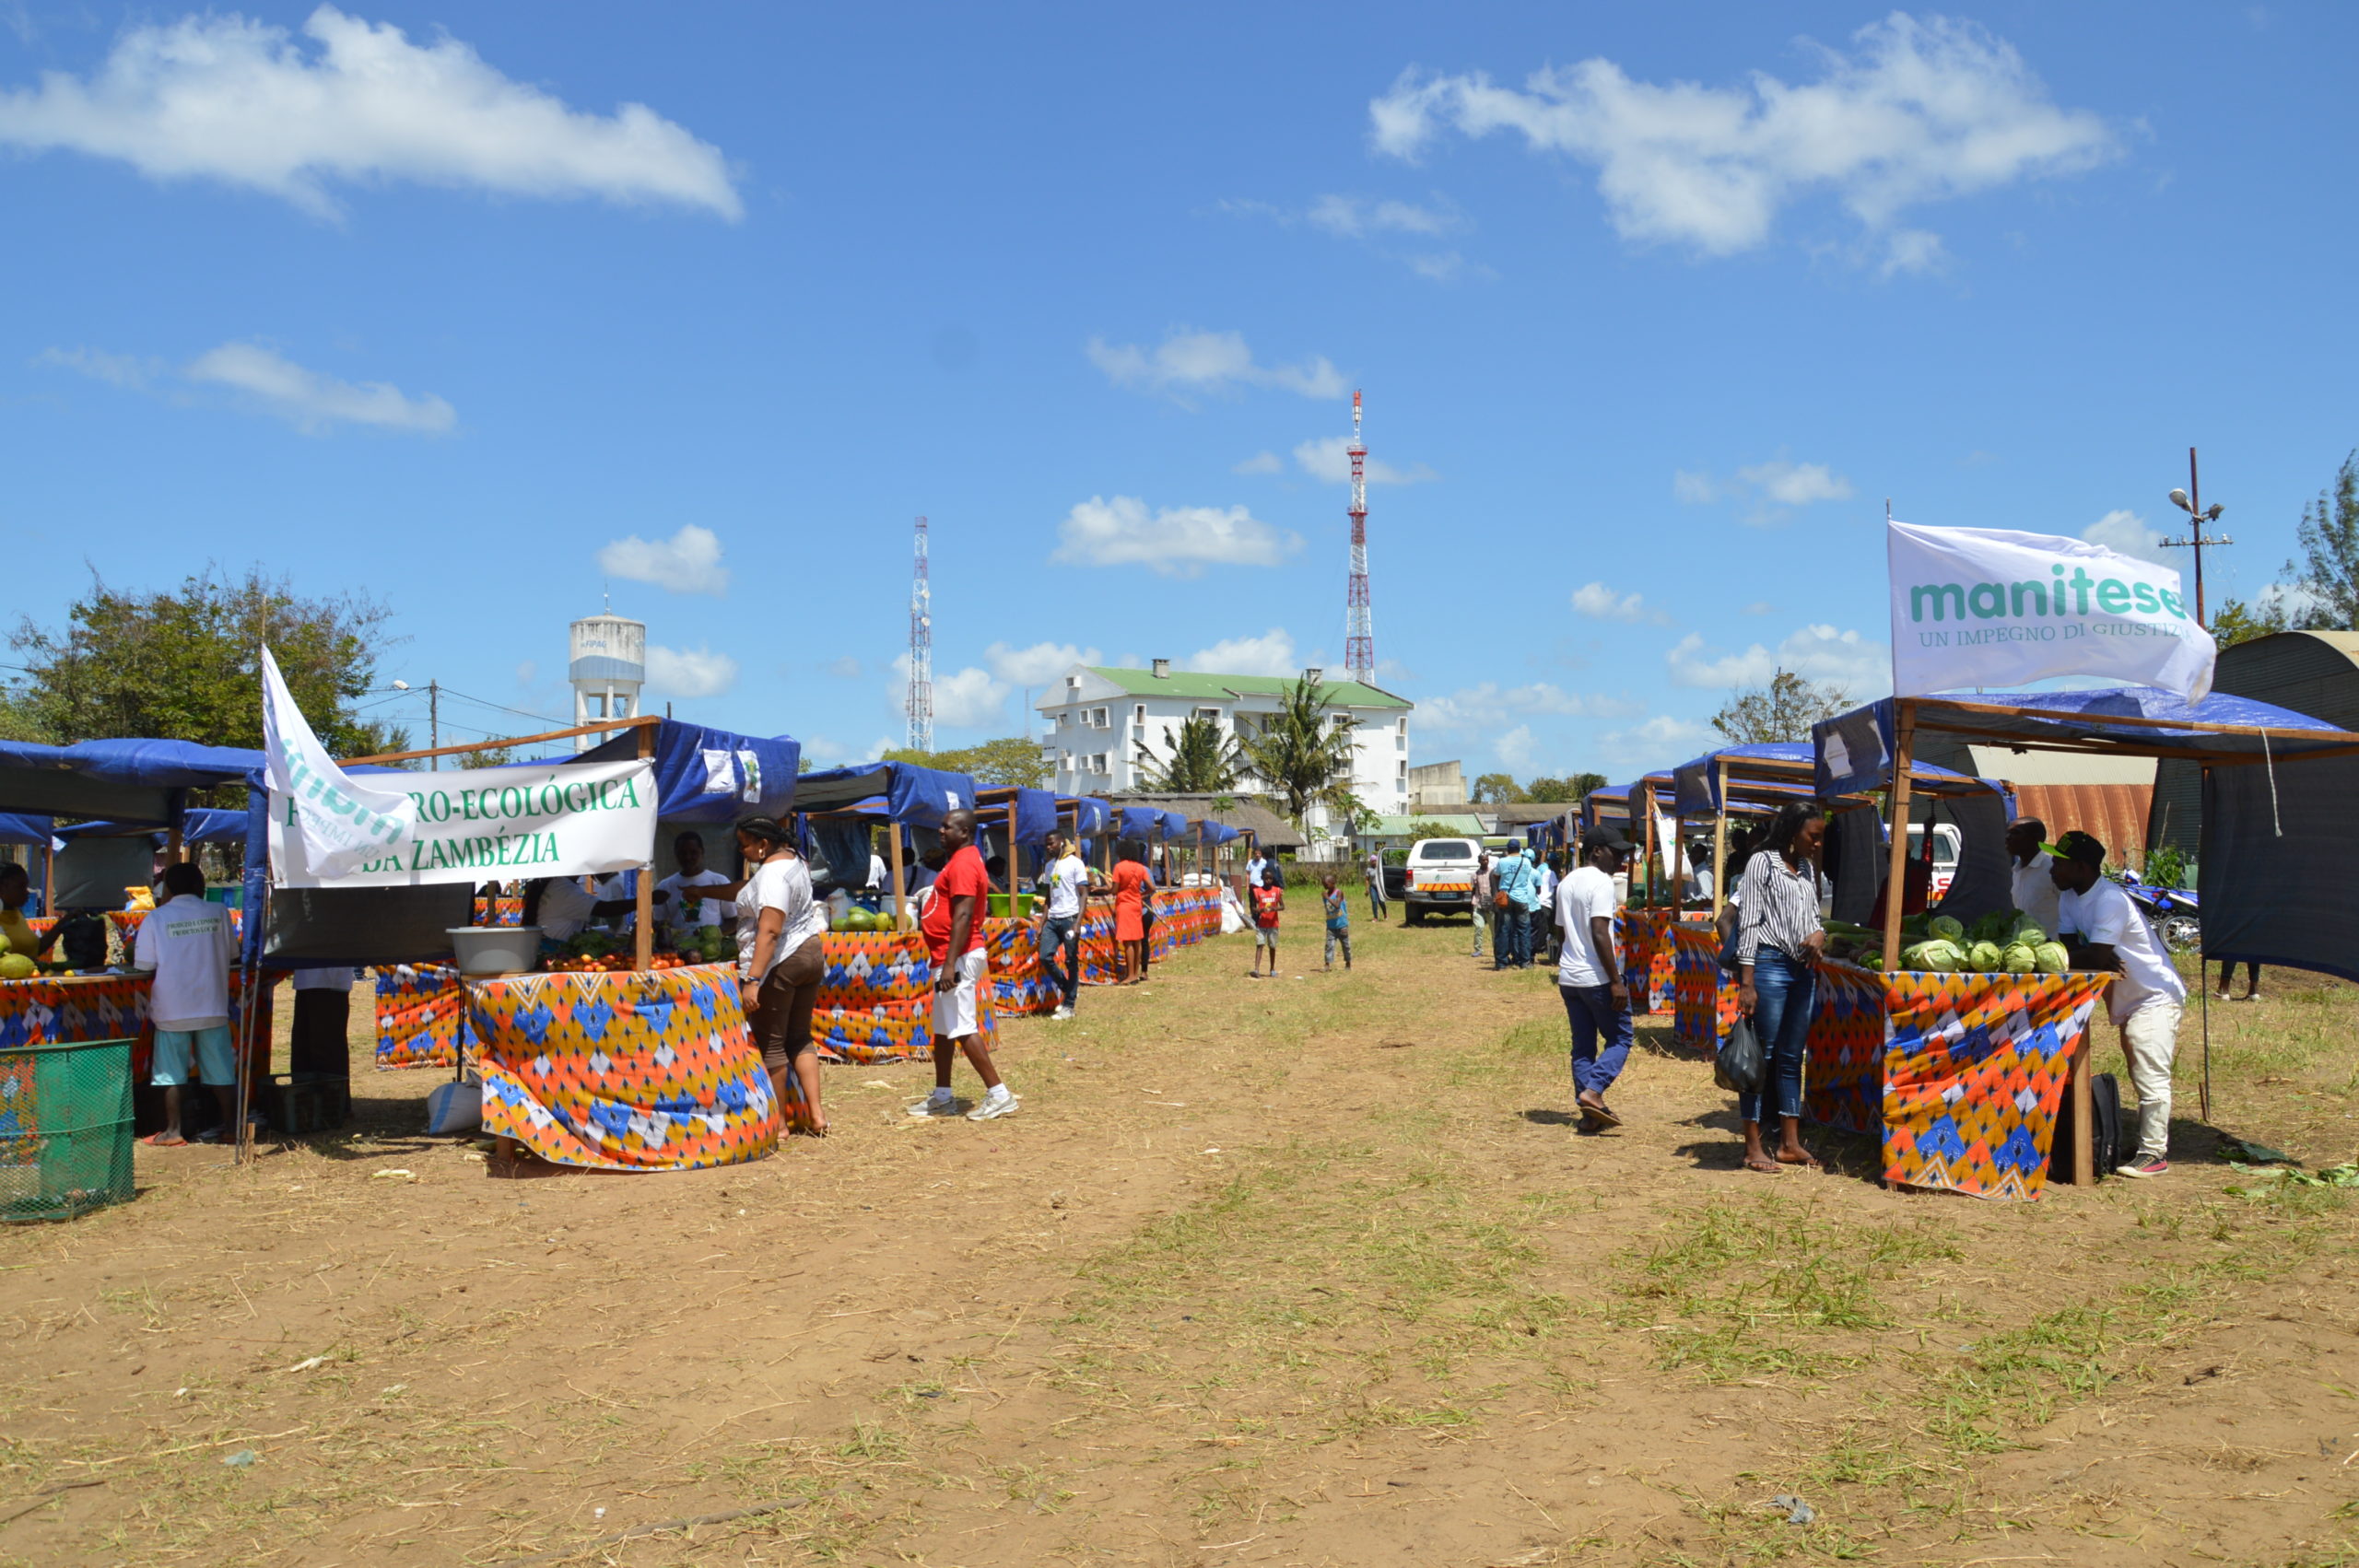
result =
M222 1125L203 1141L215 1144L238 1125L238 1059L229 1040L229 964L238 938L229 910L205 903L205 872L179 861L163 872L165 901L139 922L132 967L156 976L149 986L149 1023L156 1026L156 1061L149 1078L163 1087L163 1132L149 1144L186 1144L179 1134L179 1087L196 1078L222 1101Z

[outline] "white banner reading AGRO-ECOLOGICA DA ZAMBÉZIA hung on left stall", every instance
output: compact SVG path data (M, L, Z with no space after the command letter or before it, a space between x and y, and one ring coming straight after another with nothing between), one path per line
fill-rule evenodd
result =
M387 776L392 778L392 776ZM328 875L311 858L311 806L271 790L278 887L425 887L583 877L646 865L656 844L656 764L587 762L410 773L410 830Z

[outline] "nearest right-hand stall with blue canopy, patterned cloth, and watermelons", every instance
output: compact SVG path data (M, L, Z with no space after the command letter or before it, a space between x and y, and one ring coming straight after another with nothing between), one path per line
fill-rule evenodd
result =
M2215 924L2227 936L2210 955L2243 957L2250 943L2267 946L2272 964L2359 969L2359 915L2340 896L2359 872L2347 816L2359 733L2267 703L2187 703L2151 686L1885 698L1814 726L1812 762L1824 799L1885 795L1887 884L1901 875L1908 835L1899 823L1925 788L1925 752L1960 759L1967 743L2199 762L2206 802L2220 804L2206 809L2206 865L2222 875L2206 877L2203 924L2208 948ZM1882 955L1899 953L1901 908L1887 901ZM2078 1132L2090 1127L2090 1019L2109 983L2092 971L1821 964L1807 1108L1878 1137L1892 1184L2036 1195L2059 1127L2074 1137L2069 1170L2057 1174L2085 1184L2095 1177Z

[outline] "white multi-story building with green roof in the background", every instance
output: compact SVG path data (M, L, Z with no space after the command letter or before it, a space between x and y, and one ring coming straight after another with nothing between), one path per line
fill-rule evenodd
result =
M1408 712L1413 703L1361 681L1328 681L1305 670L1333 705L1330 722L1352 729L1352 795L1368 811L1408 811ZM1260 733L1279 698L1293 691L1290 674L1194 674L1158 658L1151 670L1073 665L1040 698L1040 745L1057 769L1062 795L1130 795L1151 788L1151 769L1170 757L1180 726L1198 714L1220 722L1234 738ZM1253 780L1238 780L1253 790ZM1342 842L1345 823L1328 823L1312 806L1307 823L1316 844ZM1338 835L1338 837L1328 837Z

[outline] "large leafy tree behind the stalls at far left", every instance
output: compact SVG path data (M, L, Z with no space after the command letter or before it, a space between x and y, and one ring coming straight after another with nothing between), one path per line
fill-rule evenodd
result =
M19 622L9 641L28 679L0 722L52 745L151 736L259 747L255 648L267 641L330 755L408 750L408 731L351 710L377 679L389 618L366 594L304 599L259 566L243 578L208 566L170 592L113 589L92 573L61 632Z

